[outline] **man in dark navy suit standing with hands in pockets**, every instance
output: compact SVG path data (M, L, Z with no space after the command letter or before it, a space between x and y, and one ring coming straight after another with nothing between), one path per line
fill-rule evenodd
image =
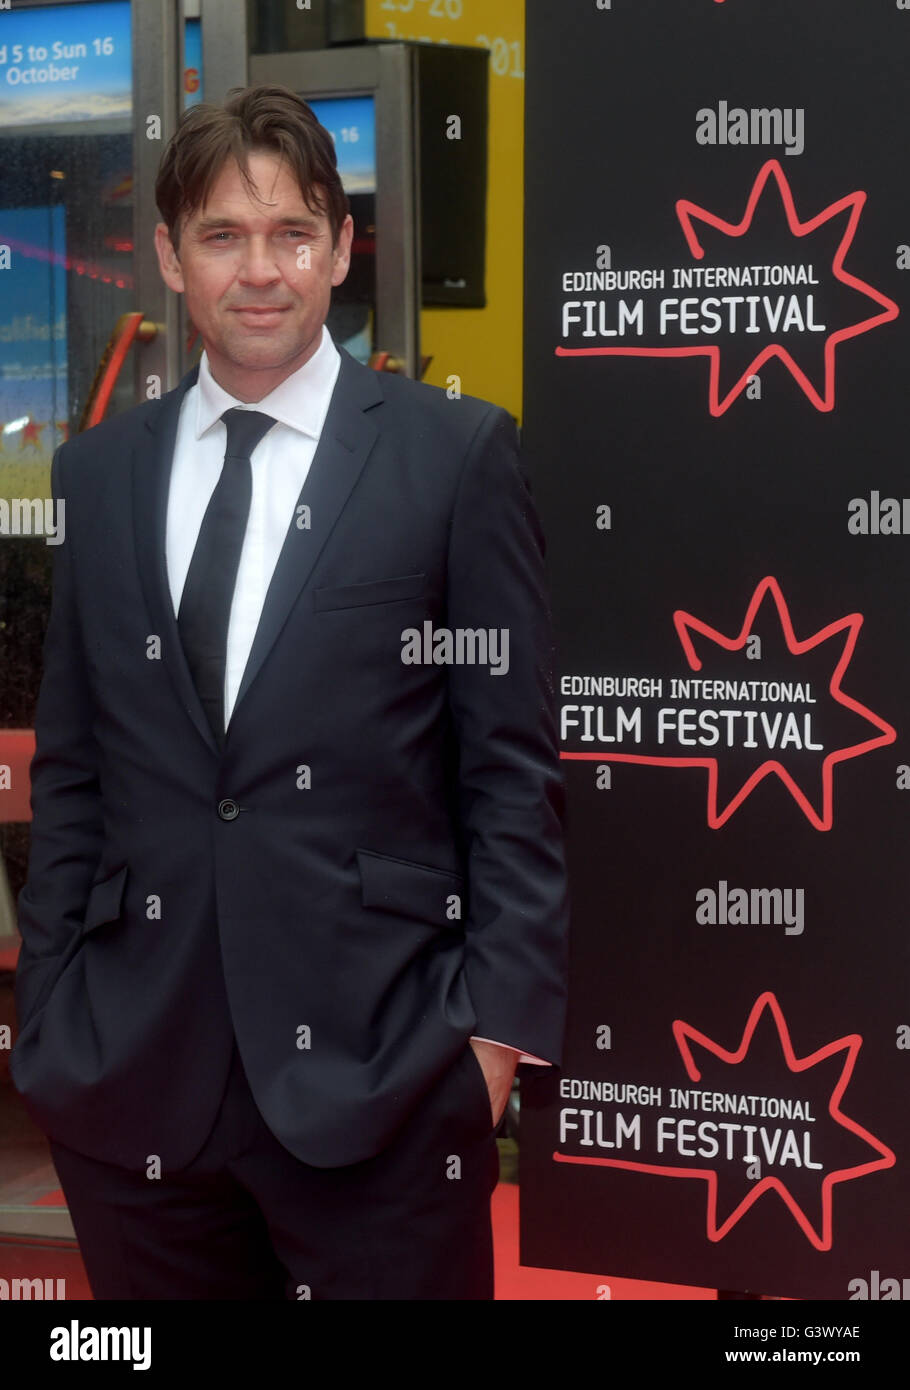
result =
M54 457L13 1076L96 1297L489 1298L565 992L515 430L332 343L353 224L293 93L195 107L157 200L206 352Z

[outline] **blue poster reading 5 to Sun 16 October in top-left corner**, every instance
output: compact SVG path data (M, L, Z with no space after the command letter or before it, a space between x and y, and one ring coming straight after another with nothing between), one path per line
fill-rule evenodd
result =
M0 129L129 118L129 4L10 10L0 18Z

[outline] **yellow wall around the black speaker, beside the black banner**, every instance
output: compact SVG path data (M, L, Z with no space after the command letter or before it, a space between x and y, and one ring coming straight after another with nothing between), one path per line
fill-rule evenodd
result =
M524 0L367 0L371 39L483 44L490 49L486 202L486 309L425 309L425 381L461 377L521 418L524 211Z

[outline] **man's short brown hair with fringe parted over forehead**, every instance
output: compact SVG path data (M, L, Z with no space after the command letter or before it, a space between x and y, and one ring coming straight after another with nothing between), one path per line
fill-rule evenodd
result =
M250 150L279 154L297 179L311 213L325 213L332 245L350 210L338 174L332 136L307 103L285 86L232 88L224 106L199 103L186 111L161 156L154 200L179 250L182 220L204 207L228 160L253 189Z

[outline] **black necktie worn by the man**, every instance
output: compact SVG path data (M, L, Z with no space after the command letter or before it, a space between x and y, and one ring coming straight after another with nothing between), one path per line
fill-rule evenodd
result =
M250 455L275 424L261 410L225 410L221 418L228 430L228 446L176 616L186 662L218 748L224 746L225 737L228 621L253 495Z

